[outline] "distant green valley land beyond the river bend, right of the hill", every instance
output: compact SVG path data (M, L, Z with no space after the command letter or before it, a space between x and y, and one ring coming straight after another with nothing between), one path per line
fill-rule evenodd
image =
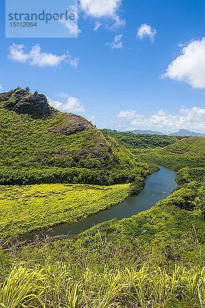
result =
M132 153L142 156L148 164L154 162L175 171L184 167L205 167L204 137L135 134L106 129L102 132L132 149Z

